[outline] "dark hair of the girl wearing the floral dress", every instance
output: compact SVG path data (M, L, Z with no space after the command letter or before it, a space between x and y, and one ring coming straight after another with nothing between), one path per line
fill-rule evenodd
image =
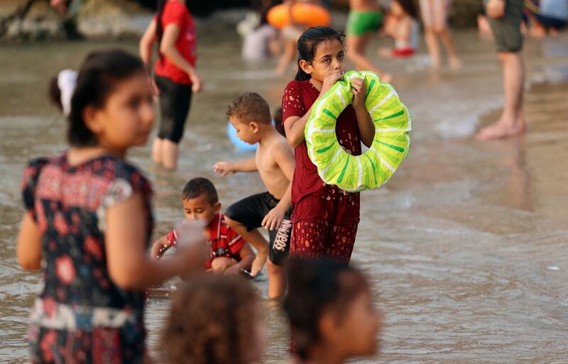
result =
M97 145L97 138L83 120L86 106L101 109L114 91L116 84L124 79L145 72L140 58L124 50L104 50L89 53L77 76L77 86L71 98L69 131L67 138L72 146Z

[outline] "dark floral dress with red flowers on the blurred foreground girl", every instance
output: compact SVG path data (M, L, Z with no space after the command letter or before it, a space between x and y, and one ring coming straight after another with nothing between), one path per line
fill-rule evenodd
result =
M104 223L109 207L141 193L148 244L151 184L124 160L102 156L71 166L64 154L29 162L22 189L43 234L45 285L28 333L32 363L142 363L144 293L109 277Z

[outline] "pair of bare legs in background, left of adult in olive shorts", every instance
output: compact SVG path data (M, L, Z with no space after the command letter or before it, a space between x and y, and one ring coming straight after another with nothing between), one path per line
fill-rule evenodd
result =
M447 11L449 9L449 0L420 0L420 13L422 14L422 22L424 23L424 38L430 58L432 59L432 68L439 69L442 60L439 52L437 38L442 40L444 48L448 54L449 67L458 69L461 67L461 60L457 56L452 35L449 34L447 28Z

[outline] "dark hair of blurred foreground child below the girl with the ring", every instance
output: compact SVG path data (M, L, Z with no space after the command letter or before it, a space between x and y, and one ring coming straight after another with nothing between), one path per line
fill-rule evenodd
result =
M346 263L334 260L288 260L288 294L283 308L294 330L295 351L308 359L310 348L319 343L320 320L329 309L342 319L359 294L368 292L364 275Z

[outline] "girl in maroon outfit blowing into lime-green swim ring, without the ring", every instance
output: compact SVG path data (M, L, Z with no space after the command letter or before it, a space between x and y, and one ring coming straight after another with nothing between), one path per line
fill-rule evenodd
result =
M307 155L304 137L312 104L344 75L344 35L327 27L310 28L300 36L297 50L297 75L282 99L286 138L295 148L296 160L290 256L349 262L359 224L359 193L346 193L322 181ZM363 80L354 79L351 87L354 101L337 118L336 133L348 153L360 155L361 141L368 147L373 143L375 126L365 108Z

